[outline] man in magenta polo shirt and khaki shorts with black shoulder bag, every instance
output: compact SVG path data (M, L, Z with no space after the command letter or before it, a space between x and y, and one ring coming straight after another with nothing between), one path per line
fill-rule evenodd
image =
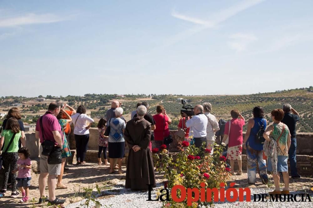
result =
M49 104L48 111L42 116L42 128L40 126L40 118L36 124L35 137L40 139L40 143L45 140L51 140L55 143L56 146L62 148L62 136L61 126L59 124L56 116L60 113L60 104L57 102L52 102ZM44 139L43 139L44 133ZM56 178L60 175L61 164L50 165L47 162L48 157L42 155L42 145L39 148L40 155L40 175L39 175L39 192L40 199L39 203L41 204L44 201L48 201L48 198L45 194L46 181L48 177L48 190L49 190L49 202L51 205L63 204L64 200L60 200L55 197L55 183Z

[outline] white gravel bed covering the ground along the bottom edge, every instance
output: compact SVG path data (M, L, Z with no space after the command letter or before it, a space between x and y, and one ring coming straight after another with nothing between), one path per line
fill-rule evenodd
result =
M161 183L156 184L157 187L163 186ZM130 189L125 189L125 180L119 181L119 183L115 186L113 186L113 189L111 190L105 190L102 193L104 194L112 194L115 195L114 197L106 198L106 199L100 199L98 200L101 203L101 208L103 207L112 207L112 208L133 208L133 207L149 207L149 208L158 208L162 207L161 201L146 201L148 199L148 192L140 192L136 191L133 192ZM117 192L115 190L119 190L120 192ZM253 201L253 194L260 194L260 193L268 193L268 188L252 188L251 189L251 201L250 202L215 202L214 207L284 207L284 208L293 208L293 207L299 207L299 208L305 208L305 207L313 207L313 202L270 202L269 200L267 202L254 202ZM152 191L151 198L155 199L156 192ZM304 194L304 191L291 191L290 194ZM309 192L311 196L311 201L313 201L313 194L312 192ZM66 206L66 208L81 208L84 207L85 200L76 202L74 204L70 204ZM93 207L95 204L90 201L90 206ZM204 206L202 207L204 208Z

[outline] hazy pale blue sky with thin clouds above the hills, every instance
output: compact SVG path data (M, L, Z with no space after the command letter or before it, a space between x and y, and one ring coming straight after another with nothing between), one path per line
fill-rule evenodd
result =
M308 87L312 11L312 0L0 0L0 96Z

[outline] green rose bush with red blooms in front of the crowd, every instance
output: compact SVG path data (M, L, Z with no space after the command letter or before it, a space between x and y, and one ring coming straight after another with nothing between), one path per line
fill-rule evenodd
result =
M205 149L203 143L203 149ZM153 153L153 160L157 171L161 174L164 172L164 177L167 179L167 189L172 189L175 185L182 185L186 188L198 188L200 190L200 183L204 182L204 188L220 188L220 183L226 184L229 180L229 169L226 167L223 156L221 156L222 148L215 145L213 155L210 155L211 150L205 149L199 152L199 148L195 145L187 145L186 143L179 143L180 152L174 161L172 155L168 155L166 149L161 152ZM160 193L159 193L160 195ZM180 192L177 192L180 198ZM171 199L171 195L170 195ZM212 200L213 201L213 200ZM183 202L164 201L164 207L186 207L187 198ZM194 202L191 207L207 206L213 202Z

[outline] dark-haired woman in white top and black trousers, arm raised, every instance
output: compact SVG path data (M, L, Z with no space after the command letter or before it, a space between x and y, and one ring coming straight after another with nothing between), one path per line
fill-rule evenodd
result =
M76 110L76 114L72 116L72 122L74 123L74 137L76 142L77 165L86 163L85 156L88 148L89 128L91 123L94 122L94 120L85 113L85 106L80 105ZM87 125L87 122L89 122L89 125Z

